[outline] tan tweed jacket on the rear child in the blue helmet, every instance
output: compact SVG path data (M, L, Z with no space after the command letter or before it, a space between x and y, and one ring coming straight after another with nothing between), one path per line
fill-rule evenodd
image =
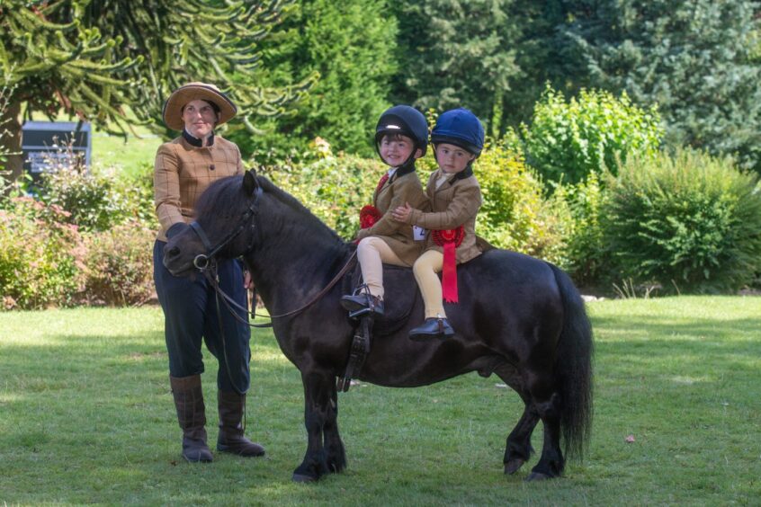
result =
M434 171L428 178L425 193L431 201L433 211L425 213L415 209L410 214L410 222L419 227L429 230L425 240L425 250L437 250L443 252L443 247L434 243L434 237L430 231L434 229L453 229L463 226L465 237L457 247L457 262L468 262L481 254L481 249L476 245L476 216L483 200L481 188L475 176L457 180L454 175L443 182L436 189L436 180L441 169Z

